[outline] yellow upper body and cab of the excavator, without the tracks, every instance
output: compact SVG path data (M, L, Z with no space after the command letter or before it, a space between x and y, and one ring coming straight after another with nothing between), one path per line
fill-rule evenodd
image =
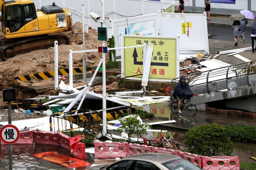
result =
M54 3L36 9L32 0L0 0L2 31L6 39L71 30L71 13Z

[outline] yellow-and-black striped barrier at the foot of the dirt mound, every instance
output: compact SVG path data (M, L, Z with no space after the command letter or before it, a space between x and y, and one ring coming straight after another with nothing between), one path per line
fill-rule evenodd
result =
M60 71L59 75L65 76L65 75L69 74L69 69L68 68L67 69L60 69L59 71ZM73 74L82 73L82 72L83 72L83 67L73 68ZM35 80L47 80L49 78L54 78L54 71L39 72L39 73L29 74L29 75L25 75L25 76L18 76L18 77L14 78L14 84L16 84L17 80L30 81L32 77Z

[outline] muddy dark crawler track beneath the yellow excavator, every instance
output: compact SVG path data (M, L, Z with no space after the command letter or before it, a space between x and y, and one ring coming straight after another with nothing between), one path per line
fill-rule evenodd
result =
M6 39L1 40L4 42ZM16 41L5 41L4 45L0 46L0 59L6 61L7 58L12 58L18 54L25 54L32 50L45 49L54 46L54 41L58 44L69 44L69 39L64 35L48 35L43 37L33 37ZM7 43L6 42L10 42Z

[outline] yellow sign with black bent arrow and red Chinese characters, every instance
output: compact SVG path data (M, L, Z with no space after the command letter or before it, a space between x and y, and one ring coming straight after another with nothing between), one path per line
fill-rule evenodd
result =
M153 43L149 79L170 80L176 77L176 38L124 36L124 46ZM124 77L143 73L143 47L124 49ZM142 78L137 76L136 78Z

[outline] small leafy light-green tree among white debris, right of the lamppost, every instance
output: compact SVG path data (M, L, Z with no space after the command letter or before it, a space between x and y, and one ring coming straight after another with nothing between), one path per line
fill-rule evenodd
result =
M135 135L138 138L138 143L141 136L147 134L147 129L151 128L151 125L142 123L141 119L138 118L140 118L140 116L133 114L119 119L122 126L118 128L117 131L127 133L128 142L131 142L131 136Z

